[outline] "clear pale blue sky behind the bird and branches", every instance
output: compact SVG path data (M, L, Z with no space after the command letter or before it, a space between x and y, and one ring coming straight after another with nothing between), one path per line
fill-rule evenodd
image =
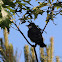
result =
M33 1L33 2L35 3L35 1ZM34 4L34 6L36 6L36 5L37 5L37 3ZM45 19L46 19L46 15L44 13L42 16L39 15L35 21L34 20L32 20L32 21L42 29L45 26ZM60 60L62 58L62 20L61 19L62 19L62 16L57 15L56 18L54 19L54 22L57 25L54 25L53 22L50 21L45 29L47 34L45 32L43 33L43 37L45 39L44 42L47 45L50 44L50 37L51 36L54 37L54 57L60 56ZM26 27L27 24L29 24L29 23L26 22L25 24L22 24L20 26L20 29L24 33L26 38L30 41L30 39L27 36L27 31L28 31L28 28ZM3 30L0 30L0 38L1 37L4 38ZM18 31L14 30L13 28L10 28L10 33L9 33L8 38L9 38L9 43L12 43L14 46L14 50L18 50L18 54L21 53L20 62L24 62L23 48L28 43L23 38L23 36ZM37 48L37 52L38 52L38 50L39 50L38 46L36 48ZM39 52L38 52L38 54L39 54Z

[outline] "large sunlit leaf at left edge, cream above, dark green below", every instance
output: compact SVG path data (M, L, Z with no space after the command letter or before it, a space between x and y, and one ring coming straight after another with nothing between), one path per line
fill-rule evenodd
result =
M0 27L3 29L6 27L9 31L9 26L11 24L10 13L5 8L2 7L1 12L0 12L0 16L1 16Z

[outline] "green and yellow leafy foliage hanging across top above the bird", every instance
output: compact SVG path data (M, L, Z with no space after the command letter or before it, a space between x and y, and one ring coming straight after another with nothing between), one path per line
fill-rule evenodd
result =
M9 2L9 3L8 3ZM27 20L36 19L37 16L43 15L43 13L47 13L46 22L50 20L54 20L56 15L62 15L62 2L54 2L54 0L48 1L38 1L38 6L33 7L33 4L30 3L31 0L0 0L0 27L7 27L8 31L13 20L13 15L17 15L18 12L23 14L21 17L18 14L19 20L21 23L25 23ZM46 8L46 10L42 8ZM56 11L57 8L57 11ZM3 11L4 14L3 14ZM6 14L6 15L5 15ZM16 19L15 19L16 20ZM54 22L54 21L53 21Z

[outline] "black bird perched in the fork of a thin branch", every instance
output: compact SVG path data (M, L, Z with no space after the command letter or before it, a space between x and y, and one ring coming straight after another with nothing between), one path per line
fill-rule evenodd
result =
M46 45L43 42L43 37L41 33L41 29L38 28L34 23L30 23L27 25L28 30L28 37L32 42L35 42L36 44L40 45L40 47L46 47Z

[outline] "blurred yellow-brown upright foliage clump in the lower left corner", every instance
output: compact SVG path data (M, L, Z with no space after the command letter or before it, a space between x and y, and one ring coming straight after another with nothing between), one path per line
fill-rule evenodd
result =
M0 59L3 62L18 62L19 59L17 58L17 51L14 54L13 45L8 41L8 32L7 28L4 29L4 39L0 38Z

